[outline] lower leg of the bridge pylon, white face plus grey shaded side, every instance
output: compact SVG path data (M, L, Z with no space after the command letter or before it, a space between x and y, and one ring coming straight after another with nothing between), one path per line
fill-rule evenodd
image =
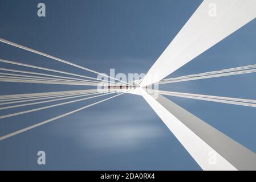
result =
M204 170L255 170L256 154L164 96L141 96Z

